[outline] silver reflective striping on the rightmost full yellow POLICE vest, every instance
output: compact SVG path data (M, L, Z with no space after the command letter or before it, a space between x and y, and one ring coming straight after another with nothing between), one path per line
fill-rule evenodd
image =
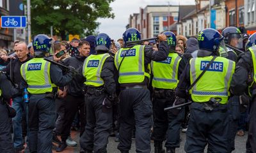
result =
M228 60L228 69L227 69L227 74L225 75L225 89L223 92L210 92L210 91L196 91L196 84L193 87L192 93L193 94L198 94L198 95L216 95L216 96L228 96L228 80L232 75L232 68L233 68L234 62L231 60ZM192 75L192 80L195 82L196 80L196 69L195 69L195 59L191 59L191 75ZM191 84L193 84L191 82Z

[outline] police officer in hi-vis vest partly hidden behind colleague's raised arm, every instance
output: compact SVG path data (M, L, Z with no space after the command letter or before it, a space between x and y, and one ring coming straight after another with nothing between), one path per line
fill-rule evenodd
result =
M180 145L180 126L184 119L184 109L178 113L172 111L164 112L164 108L172 106L175 100L174 89L179 82L178 72L181 57L175 53L176 36L170 31L163 34L168 36L167 43L169 54L166 60L151 62L152 66L152 87L153 91L153 114L154 131L152 138L154 140L155 153L164 152L162 143L167 133L166 152L175 152L175 148Z

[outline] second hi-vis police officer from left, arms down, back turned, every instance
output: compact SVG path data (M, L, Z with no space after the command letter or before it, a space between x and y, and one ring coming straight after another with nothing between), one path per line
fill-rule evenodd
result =
M95 41L97 54L88 56L83 64L86 126L80 145L84 152L104 153L112 128L111 103L116 99L116 70L114 58L108 54L111 43L108 34L98 34Z

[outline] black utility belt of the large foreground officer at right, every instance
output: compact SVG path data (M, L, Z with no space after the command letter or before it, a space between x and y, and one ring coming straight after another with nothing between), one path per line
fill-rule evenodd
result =
M227 105L220 104L221 98L211 98L208 102L195 103L192 108L203 110L204 112L227 112Z

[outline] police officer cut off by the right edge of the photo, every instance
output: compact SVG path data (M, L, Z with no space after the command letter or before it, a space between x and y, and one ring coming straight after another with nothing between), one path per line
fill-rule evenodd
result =
M249 105L249 129L246 142L246 152L256 152L256 33L252 34L246 43L247 52L236 64L236 72L231 82L231 90L236 95L247 92L252 98ZM234 84L234 85L233 85Z

